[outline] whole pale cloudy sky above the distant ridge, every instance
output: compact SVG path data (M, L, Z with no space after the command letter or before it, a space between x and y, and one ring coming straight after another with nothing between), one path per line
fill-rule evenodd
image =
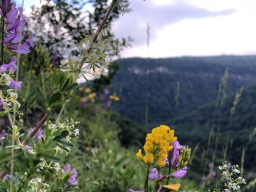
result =
M34 2L24 0L25 9ZM132 12L120 16L112 27L116 37L133 39L121 57L256 54L255 0L130 2Z

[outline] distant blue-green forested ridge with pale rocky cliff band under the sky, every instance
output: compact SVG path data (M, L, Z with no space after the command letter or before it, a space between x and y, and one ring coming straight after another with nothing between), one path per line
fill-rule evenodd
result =
M138 123L148 121L150 126L215 102L226 68L227 95L256 80L256 56L132 58L119 62L112 86L121 99L114 108Z

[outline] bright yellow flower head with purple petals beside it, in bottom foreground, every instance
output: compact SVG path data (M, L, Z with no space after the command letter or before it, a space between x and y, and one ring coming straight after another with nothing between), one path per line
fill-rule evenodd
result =
M174 130L165 125L156 127L148 133L143 149L145 154L143 155L139 149L136 156L148 170L144 191L149 191L148 179L157 179L154 191L178 191L180 183L176 183L174 179L182 178L187 173L191 149L188 146L181 146L177 137L174 137ZM167 175L160 174L164 167L168 167ZM130 192L133 191L130 189Z

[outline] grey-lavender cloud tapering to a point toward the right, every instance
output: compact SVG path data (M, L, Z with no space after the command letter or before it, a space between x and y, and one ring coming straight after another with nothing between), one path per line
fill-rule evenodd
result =
M188 1L132 1L132 13L121 16L113 26L117 37L132 37L133 46L146 44L146 25L150 26L150 39L155 40L157 33L165 26L186 19L211 18L232 15L235 9L209 10L190 4Z

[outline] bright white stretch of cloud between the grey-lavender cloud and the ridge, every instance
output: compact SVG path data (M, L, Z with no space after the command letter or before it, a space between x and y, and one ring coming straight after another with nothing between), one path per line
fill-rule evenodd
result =
M150 3L152 3L152 0ZM182 55L256 54L256 12L254 10L256 1L191 0L190 3L211 11L236 9L236 12L205 18L185 18L173 24L165 24L165 27L157 30L155 38L151 39L149 54L147 54L146 48L145 23L143 31L136 31L137 34L142 33L144 35L137 36L143 36L144 44L136 46L135 42L135 46L123 51L123 56L173 57ZM160 16L157 16L157 19L166 20L166 18ZM133 21L133 23L136 22ZM129 30L126 29L126 33L128 34ZM134 30L132 33L135 34Z

